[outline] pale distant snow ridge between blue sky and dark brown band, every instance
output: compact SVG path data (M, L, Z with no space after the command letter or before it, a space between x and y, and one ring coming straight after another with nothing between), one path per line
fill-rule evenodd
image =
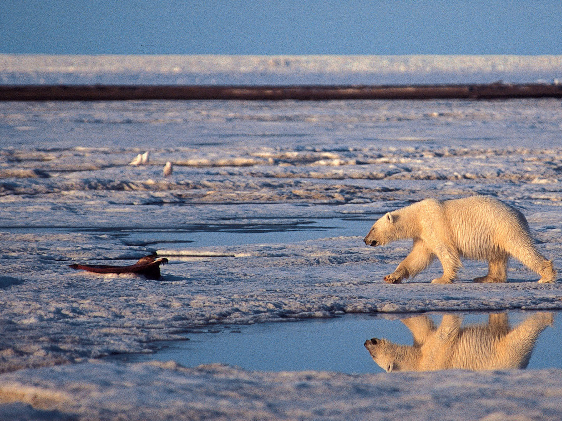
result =
M0 84L551 81L562 56L49 56L0 54Z

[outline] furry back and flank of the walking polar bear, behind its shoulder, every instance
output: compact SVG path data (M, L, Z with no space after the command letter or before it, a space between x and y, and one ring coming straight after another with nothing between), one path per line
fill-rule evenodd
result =
M453 240L467 258L489 260L532 244L521 212L489 196L442 202Z

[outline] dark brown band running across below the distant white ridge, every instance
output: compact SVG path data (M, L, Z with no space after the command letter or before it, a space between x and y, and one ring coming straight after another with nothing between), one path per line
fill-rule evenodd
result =
M0 85L2 101L562 98L562 85Z

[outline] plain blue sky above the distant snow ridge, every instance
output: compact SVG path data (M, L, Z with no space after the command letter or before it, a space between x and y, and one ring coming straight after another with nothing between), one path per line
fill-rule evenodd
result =
M2 0L0 53L562 54L558 1Z

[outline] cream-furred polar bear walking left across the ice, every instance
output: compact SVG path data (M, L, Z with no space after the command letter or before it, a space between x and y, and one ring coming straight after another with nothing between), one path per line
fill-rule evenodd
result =
M396 270L384 277L388 283L416 276L436 257L443 266L443 276L433 283L451 283L462 266L461 257L488 262L488 274L474 278L474 282L506 282L509 257L540 274L538 282L556 279L552 260L545 259L533 244L527 219L490 196L422 200L378 219L363 241L378 246L403 239L413 239L413 248Z

